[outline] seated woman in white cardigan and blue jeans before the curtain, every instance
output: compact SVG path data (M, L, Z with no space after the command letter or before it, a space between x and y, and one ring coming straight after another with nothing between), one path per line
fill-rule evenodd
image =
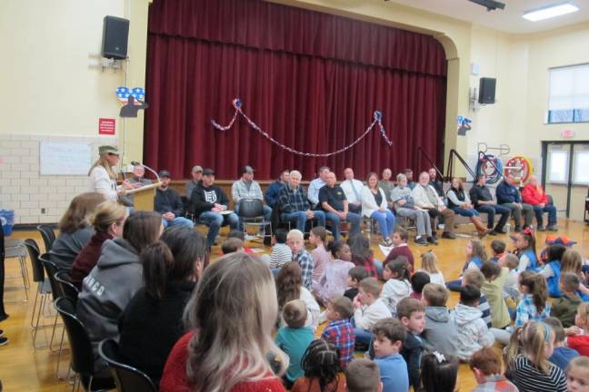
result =
M388 204L384 191L378 188L378 174L374 171L368 174L366 186L360 192L362 197L362 216L374 219L383 235L381 245L390 247L393 245L391 236L394 229L394 215L388 210Z

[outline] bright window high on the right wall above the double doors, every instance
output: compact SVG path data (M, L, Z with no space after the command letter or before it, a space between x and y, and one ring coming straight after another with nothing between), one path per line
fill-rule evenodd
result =
M589 64L549 72L548 122L589 122Z

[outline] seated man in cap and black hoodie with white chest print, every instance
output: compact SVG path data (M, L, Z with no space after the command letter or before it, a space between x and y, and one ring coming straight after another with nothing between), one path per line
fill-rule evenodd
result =
M239 227L237 214L227 210L229 205L227 195L214 183L215 171L205 169L203 181L196 185L190 196L190 209L201 223L209 227L206 235L209 247L215 244L216 235L221 226L228 224L231 230L237 230Z

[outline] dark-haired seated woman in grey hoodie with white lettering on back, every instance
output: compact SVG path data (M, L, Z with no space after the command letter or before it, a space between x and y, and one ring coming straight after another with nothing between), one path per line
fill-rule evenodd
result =
M139 211L125 220L123 237L106 240L100 259L82 282L76 314L84 324L95 349L95 370L105 368L98 343L118 339L117 320L127 304L144 285L140 255L157 242L164 227L154 211Z

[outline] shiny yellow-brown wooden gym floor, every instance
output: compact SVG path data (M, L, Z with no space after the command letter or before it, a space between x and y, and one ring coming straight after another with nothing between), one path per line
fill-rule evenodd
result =
M589 254L589 230L581 222L559 221L560 234L568 235L571 239L578 241L575 249L583 253L584 256ZM472 226L461 226L458 232L470 232ZM33 231L15 231L11 238L33 238L42 246L41 238ZM507 236L500 236L508 241ZM539 233L538 243L544 244L544 233ZM493 237L484 239L487 246ZM375 240L375 239L374 239ZM454 279L464 264L464 247L467 239L459 238L457 240L441 240L440 245L436 247L420 247L411 245L414 252L417 267L419 266L419 256L425 250L432 249L438 258L438 264L444 272L444 277ZM260 245L251 243L253 248ZM542 248L540 245L539 248ZM511 245L510 245L511 249ZM377 259L384 259L384 255L378 250L374 243L374 253ZM218 257L220 250L215 247L213 258ZM28 260L27 260L28 263ZM18 272L17 261L14 259L6 260L6 275L16 275ZM30 266L29 266L30 274ZM5 286L15 286L22 282L20 278L6 279ZM5 307L10 318L2 322L0 328L5 330L5 336L10 339L10 343L0 347L0 379L4 384L5 391L52 391L61 392L71 389L71 386L63 379L55 377L57 367L57 355L48 348L34 349L31 338L30 319L35 300L35 284L29 289L29 301L25 299L24 290L15 289L5 292ZM454 307L457 302L457 296L453 293L450 297L449 306ZM52 319L45 319L49 323ZM60 333L60 331L58 331ZM38 341L46 342L51 333L51 328L45 328L39 333ZM67 351L62 356L60 365L60 377L64 378L68 366L69 356ZM462 391L471 390L474 387L474 377L472 376L467 365L461 365L459 372L459 387Z

